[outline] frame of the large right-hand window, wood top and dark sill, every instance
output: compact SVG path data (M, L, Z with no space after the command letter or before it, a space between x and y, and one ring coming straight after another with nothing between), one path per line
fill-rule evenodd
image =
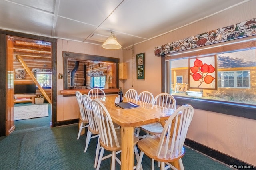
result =
M161 55L161 91L170 93L170 89L166 83L170 83L169 73L170 69L168 62L171 59L181 59L191 56L205 56L220 52L228 52L243 49L256 49L256 36L241 38L240 40L230 40L228 42L207 45L207 47L197 47L196 49L188 49L171 54ZM234 102L216 101L210 99L198 99L195 97L183 97L173 95L176 99L177 105L189 104L195 109L205 111L212 111L237 117L243 117L256 120L256 106L250 104L241 104Z

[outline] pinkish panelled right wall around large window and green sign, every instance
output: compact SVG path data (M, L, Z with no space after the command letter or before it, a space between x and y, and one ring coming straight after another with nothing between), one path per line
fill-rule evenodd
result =
M161 93L161 58L154 56L155 47L256 18L255 9L256 1L252 0L158 38L134 45L135 58L136 54L145 53L145 80L136 80L136 60L132 62L132 50L124 50L123 61L128 63L128 79L124 80L124 92L133 88L138 93L144 90L151 91L154 96ZM187 137L256 166L255 120L195 109Z

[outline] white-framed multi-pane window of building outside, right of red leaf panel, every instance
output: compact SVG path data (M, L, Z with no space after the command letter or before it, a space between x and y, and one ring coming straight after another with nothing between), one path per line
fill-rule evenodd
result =
M218 87L250 88L250 71L220 71Z

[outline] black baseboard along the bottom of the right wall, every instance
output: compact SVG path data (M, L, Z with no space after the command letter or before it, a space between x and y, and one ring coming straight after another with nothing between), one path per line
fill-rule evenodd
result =
M190 140L188 138L186 138L186 140L185 140L185 145L190 148L193 148L194 150L197 150L198 152L206 154L207 156L210 156L220 162L223 162L224 164L229 165L230 168L236 166L236 169L244 170L244 169L249 169L246 167L250 167L250 169L256 170L256 167L253 165L247 164L246 162L243 162L241 160L238 160L236 158L228 156L228 155L221 153L217 150L214 150L212 148L208 148L207 146L204 146L204 145L202 145L198 142L195 142L193 140Z

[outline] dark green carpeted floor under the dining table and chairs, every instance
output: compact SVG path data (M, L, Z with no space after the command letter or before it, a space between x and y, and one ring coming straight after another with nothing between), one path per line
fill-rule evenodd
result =
M37 118L43 119L43 118ZM0 138L1 170L93 170L97 139L91 139L88 150L84 153L86 135L77 140L78 124L50 128L24 125L16 122L18 127L30 127L16 130L9 136ZM40 120L37 120L40 121ZM40 121L42 123L44 121ZM23 125L22 125L23 124ZM39 124L39 123L38 123ZM186 170L228 170L228 166L212 160L190 148L185 148L183 160ZM151 169L151 160L144 156L144 170ZM103 160L101 170L110 169L110 158ZM120 166L116 162L116 170ZM155 164L155 169L159 169Z

